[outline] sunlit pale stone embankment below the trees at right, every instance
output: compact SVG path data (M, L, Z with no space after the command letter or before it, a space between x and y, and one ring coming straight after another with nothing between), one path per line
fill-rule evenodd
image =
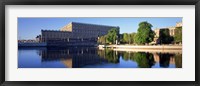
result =
M182 53L182 45L99 45L98 48L115 51Z

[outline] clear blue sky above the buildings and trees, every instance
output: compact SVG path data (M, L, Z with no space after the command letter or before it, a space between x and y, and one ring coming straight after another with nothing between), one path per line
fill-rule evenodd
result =
M181 17L166 18L18 18L18 39L34 39L41 30L59 30L70 22L91 23L109 26L119 26L120 33L137 32L138 24L147 21L152 29L175 26L181 22Z

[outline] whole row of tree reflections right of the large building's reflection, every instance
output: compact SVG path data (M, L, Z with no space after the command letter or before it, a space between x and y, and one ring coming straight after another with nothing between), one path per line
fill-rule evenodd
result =
M175 64L176 68L182 68L182 54L124 52L106 49L98 52L98 55L111 63L119 63L119 57L121 56L124 61L131 60L136 62L140 68L151 68L156 62L159 63L160 67L164 68L169 67L169 64Z

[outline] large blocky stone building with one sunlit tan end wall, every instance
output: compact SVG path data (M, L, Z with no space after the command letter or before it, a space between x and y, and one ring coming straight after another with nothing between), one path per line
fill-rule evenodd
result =
M71 22L60 30L41 30L41 40L47 43L91 43L97 42L98 37L106 35L109 30L118 26L86 24Z

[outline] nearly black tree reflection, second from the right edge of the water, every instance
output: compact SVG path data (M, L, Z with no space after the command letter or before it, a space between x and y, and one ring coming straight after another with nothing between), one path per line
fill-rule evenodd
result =
M159 53L158 55L159 55L159 58L160 58L160 67L164 67L164 68L169 67L170 57L173 56L173 54Z

